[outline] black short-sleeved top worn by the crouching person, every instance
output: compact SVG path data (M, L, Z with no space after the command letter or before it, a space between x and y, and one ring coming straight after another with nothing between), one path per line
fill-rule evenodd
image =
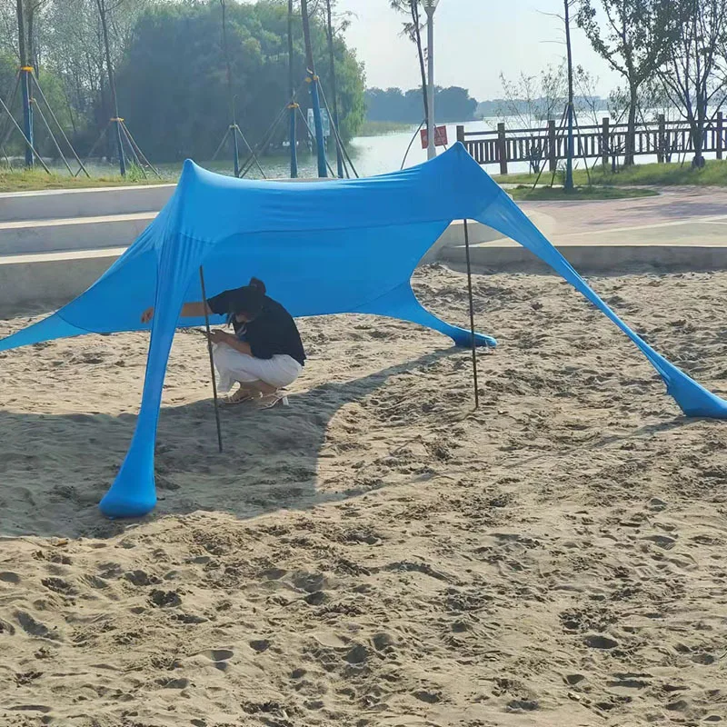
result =
M214 314L227 315L230 312L229 299L234 291L226 290L207 301ZM241 324L233 318L234 333L250 344L255 358L273 358L275 355L287 355L294 358L302 366L305 365L305 351L298 327L293 316L284 307L268 298L263 299L261 314L247 324Z

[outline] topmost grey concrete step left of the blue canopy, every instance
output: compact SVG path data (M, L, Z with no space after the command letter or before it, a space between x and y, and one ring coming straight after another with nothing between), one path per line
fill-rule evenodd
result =
M145 184L5 192L0 194L0 222L159 212L175 188L176 184Z

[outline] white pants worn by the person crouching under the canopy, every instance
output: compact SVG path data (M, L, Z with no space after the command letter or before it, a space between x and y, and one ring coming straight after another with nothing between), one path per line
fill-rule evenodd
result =
M235 351L226 344L214 344L214 365L219 372L217 389L227 393L235 382L262 381L277 389L289 386L300 376L303 366L292 356L276 355L273 358L254 358Z

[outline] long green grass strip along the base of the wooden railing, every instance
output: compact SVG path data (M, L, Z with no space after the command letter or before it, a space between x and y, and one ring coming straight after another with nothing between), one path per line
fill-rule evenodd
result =
M541 184L549 184L552 173L541 174ZM494 179L500 184L533 184L535 174L503 174ZM560 182L562 174L556 174L556 182ZM588 175L584 169L573 171L575 184L588 184ZM603 169L597 165L591 172L591 182L601 186L727 186L727 161L710 160L702 169L692 169L687 162L677 164L635 164L622 167L616 174L611 168Z

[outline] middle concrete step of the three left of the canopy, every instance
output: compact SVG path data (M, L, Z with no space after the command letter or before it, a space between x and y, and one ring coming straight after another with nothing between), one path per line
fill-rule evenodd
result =
M0 255L95 250L132 244L155 212L0 223Z

